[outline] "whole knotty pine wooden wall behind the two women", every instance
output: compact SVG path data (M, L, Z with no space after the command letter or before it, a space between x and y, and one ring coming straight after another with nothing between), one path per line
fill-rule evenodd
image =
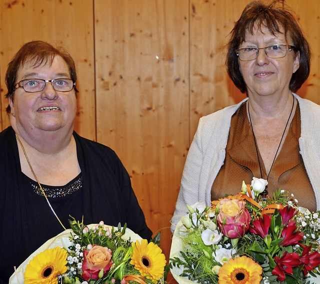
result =
M168 256L170 218L198 119L245 96L228 79L223 45L248 0L0 0L0 128L4 74L25 42L63 45L77 72L76 131L113 148ZM287 0L313 50L298 92L320 103L320 8Z

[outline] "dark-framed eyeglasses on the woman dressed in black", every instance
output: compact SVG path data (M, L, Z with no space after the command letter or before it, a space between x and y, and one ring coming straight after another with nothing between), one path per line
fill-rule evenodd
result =
M23 88L28 93L40 92L44 89L45 83L48 82L51 82L53 89L59 92L68 92L75 87L75 82L72 79L57 78L52 80L25 79L16 83L15 88Z

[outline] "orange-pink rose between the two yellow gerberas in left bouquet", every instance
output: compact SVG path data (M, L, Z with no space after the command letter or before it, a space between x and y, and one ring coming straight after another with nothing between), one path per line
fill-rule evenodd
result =
M103 269L103 277L112 265L111 249L99 245L93 245L90 250L83 250L82 278L85 281L99 279L99 272Z

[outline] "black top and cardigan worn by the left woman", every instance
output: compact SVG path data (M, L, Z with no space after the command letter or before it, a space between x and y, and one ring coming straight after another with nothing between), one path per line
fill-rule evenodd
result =
M69 215L84 224L118 222L150 239L127 171L109 147L73 132L82 186L65 196L48 197L66 228ZM43 161L45 163L45 161ZM73 180L74 181L74 180ZM73 182L71 181L71 183ZM46 240L63 231L43 196L21 172L11 127L0 133L0 283Z

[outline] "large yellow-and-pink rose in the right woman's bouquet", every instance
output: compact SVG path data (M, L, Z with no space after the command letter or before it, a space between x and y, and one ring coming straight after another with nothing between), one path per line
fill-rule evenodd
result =
M250 214L245 208L245 201L222 199L218 205L216 219L222 234L232 239L243 236L250 225Z

